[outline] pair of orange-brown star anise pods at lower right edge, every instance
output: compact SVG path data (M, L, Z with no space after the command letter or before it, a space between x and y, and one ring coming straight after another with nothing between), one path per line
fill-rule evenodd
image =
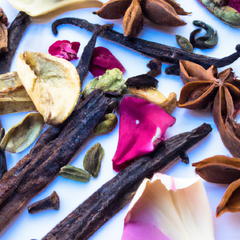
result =
M207 182L230 184L217 207L217 217L225 212L240 212L240 158L218 155L193 166L196 167L196 173Z

